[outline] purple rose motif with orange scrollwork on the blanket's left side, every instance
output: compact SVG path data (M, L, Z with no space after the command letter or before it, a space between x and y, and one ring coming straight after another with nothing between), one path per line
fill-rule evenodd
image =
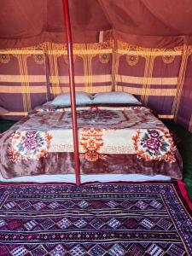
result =
M9 159L40 160L48 154L51 135L47 131L15 131L9 144Z

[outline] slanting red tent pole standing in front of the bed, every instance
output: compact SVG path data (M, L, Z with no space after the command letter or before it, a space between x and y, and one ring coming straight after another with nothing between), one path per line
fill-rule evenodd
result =
M75 82L74 82L74 65L73 65L73 41L71 32L70 15L68 8L68 0L62 0L64 10L64 20L66 26L67 53L68 53L68 73L70 84L70 97L72 108L72 123L73 123L73 147L74 147L74 162L75 162L75 177L77 186L80 185L80 164L79 164L79 140L78 140L78 124L77 111L75 100Z

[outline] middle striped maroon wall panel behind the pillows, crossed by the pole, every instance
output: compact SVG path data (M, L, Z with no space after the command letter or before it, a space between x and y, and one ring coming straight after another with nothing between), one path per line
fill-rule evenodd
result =
M69 91L67 49L64 44L48 44L52 98ZM77 91L96 93L112 90L113 41L102 44L73 44Z

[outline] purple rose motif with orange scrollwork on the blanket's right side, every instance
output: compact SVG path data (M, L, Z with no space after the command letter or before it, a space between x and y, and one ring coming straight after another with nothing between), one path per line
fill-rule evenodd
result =
M174 151L176 147L173 143L169 131L148 129L137 130L137 134L132 137L138 158L145 160L165 160L173 163L176 161Z

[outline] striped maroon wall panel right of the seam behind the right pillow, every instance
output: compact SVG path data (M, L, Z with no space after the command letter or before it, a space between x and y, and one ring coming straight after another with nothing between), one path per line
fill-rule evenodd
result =
M174 101L183 47L149 49L117 42L115 90L126 91L158 113L174 118Z

